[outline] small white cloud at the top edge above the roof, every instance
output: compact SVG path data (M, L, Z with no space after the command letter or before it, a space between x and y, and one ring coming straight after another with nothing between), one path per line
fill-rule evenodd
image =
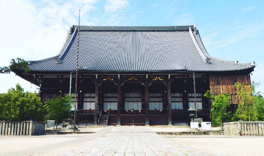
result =
M105 4L105 11L116 12L118 9L125 8L128 4L126 0L107 0Z

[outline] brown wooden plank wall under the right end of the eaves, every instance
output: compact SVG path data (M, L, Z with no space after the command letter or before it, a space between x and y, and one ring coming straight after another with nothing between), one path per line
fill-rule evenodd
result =
M247 89L251 89L250 75L209 75L211 94L230 94L230 104L237 104L236 82L244 83Z

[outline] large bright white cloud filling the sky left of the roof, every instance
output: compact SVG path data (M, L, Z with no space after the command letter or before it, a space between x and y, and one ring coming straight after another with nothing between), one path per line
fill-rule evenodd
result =
M81 24L96 25L97 19L89 18L89 12L96 9L96 2L98 0L0 0L0 66L8 66L14 58L40 60L56 55L62 47L70 23L78 24L80 9ZM0 74L0 93L7 92L17 83L25 91L30 91L30 82L14 73Z

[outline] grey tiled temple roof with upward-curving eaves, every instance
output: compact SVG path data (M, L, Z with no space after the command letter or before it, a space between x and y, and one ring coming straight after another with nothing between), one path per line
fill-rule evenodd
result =
M209 56L196 26L80 26L78 67L87 71L237 71L254 63L237 63ZM75 71L77 26L62 49L48 59L30 61L31 71Z

